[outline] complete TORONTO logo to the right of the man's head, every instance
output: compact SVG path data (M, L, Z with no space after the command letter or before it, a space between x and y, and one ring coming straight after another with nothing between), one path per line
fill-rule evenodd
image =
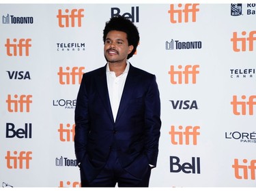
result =
M165 42L166 50L186 50L186 49L201 49L201 41L179 41L173 40Z

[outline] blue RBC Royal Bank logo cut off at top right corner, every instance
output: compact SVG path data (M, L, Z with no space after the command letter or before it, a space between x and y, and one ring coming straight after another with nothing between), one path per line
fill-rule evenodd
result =
M244 14L243 14L244 12ZM231 16L256 15L256 3L231 3Z

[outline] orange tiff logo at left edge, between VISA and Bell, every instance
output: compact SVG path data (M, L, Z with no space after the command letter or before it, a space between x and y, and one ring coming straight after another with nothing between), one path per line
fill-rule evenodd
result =
M26 107L25 112L30 111L30 104L32 95L25 95L22 94L18 97L17 94L14 95L14 99L12 99L12 95L8 94L8 99L6 103L8 104L8 111L9 112L24 112L24 107Z

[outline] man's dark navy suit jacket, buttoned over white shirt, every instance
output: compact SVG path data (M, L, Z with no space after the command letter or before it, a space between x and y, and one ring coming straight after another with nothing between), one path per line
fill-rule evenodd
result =
M74 146L87 181L104 167L115 147L119 162L135 177L156 166L160 137L160 97L156 77L130 65L114 122L106 65L83 74L76 99Z

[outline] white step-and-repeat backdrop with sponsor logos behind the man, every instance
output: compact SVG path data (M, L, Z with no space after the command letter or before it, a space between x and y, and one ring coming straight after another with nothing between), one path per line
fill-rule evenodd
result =
M129 18L130 58L161 99L151 187L256 186L256 4L1 4L0 184L79 187L74 108L106 64L103 29Z

